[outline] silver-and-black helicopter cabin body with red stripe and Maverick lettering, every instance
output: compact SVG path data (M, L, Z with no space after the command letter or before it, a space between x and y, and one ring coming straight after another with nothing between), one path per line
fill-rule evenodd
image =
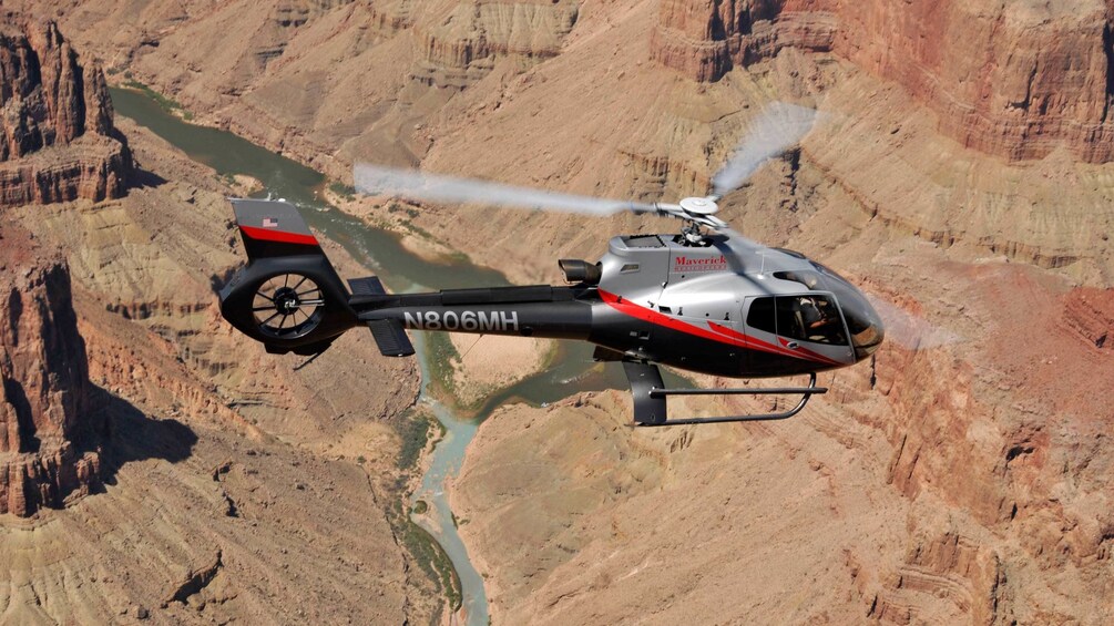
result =
M676 235L614 237L599 264L603 304L649 324L641 334L589 336L626 359L773 376L852 364L882 339L878 314L844 278L735 233L698 245ZM612 327L609 316L595 315L594 326Z

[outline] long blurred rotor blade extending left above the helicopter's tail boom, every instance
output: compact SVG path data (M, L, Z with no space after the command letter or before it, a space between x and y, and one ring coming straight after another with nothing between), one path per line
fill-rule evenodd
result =
M353 178L355 179L355 188L364 194L391 195L440 203L544 208L587 215L612 215L623 211L636 213L655 211L652 204L559 194L487 180L426 174L413 169L395 169L370 163L356 164L353 168Z

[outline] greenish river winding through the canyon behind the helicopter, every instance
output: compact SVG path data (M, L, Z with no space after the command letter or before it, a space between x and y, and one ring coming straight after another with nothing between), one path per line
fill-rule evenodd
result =
M321 199L328 180L314 169L232 133L189 124L172 115L153 94L115 87L109 91L116 113L147 127L190 158L212 167L219 175L251 176L263 184L260 195L271 194L297 205L310 226L343 246L358 262L373 268L391 291L508 284L499 272L476 266L466 260L440 264L411 254L395 234L372 227ZM228 211L231 215L231 206ZM602 241L600 252L604 245ZM421 336L422 333L413 334L423 378L419 402L430 405L444 426L446 437L434 448L430 467L411 501L412 505L418 499L424 500L430 511L426 516L412 516L412 519L437 539L452 561L461 583L468 625L483 626L488 624L483 579L468 558L444 496L444 482L460 471L468 443L476 436L479 422L506 403L538 405L580 391L626 389L627 383L622 368L594 363L593 349L587 343L560 342L557 356L548 369L492 394L476 418L460 419L451 408L427 393L430 380L429 341ZM675 384L685 384L674 376L671 379ZM430 519L433 524L429 524Z

